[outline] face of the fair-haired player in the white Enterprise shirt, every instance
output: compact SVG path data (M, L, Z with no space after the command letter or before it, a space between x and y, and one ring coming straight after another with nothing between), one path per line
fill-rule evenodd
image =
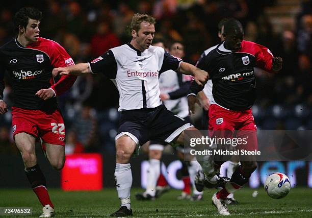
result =
M135 39L137 49L144 51L149 48L155 35L155 26L149 22L142 22L140 25L140 30L138 32L134 31L133 37Z

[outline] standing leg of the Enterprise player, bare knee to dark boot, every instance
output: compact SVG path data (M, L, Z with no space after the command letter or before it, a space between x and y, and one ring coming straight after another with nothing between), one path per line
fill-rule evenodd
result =
M121 201L121 207L111 216L132 215L131 210L131 186L132 172L130 165L131 155L136 149L137 143L127 135L123 135L116 140L116 168L115 182L118 192L118 198Z

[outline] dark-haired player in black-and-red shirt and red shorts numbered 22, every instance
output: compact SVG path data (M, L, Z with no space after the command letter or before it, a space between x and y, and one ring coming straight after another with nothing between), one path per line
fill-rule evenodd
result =
M57 42L39 37L41 17L38 9L20 9L14 16L17 37L0 47L0 114L8 111L3 101L3 78L7 70L13 87L15 144L21 153L25 174L43 206L40 217L50 217L54 215L54 206L37 164L35 142L40 137L50 165L57 170L63 168L65 126L54 97L71 87L76 77L62 76L57 83L51 77L54 67L74 63Z

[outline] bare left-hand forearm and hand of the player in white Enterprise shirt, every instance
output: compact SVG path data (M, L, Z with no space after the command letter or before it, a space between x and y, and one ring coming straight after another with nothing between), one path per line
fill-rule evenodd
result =
M56 77L58 75L75 75L81 76L85 74L90 74L91 70L88 63L80 63L67 67L58 67L52 70L52 76Z

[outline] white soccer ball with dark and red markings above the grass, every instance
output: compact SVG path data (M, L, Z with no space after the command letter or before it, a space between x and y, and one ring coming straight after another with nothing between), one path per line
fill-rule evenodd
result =
M291 189L288 176L282 173L270 174L265 182L265 190L268 196L274 199L284 198Z

